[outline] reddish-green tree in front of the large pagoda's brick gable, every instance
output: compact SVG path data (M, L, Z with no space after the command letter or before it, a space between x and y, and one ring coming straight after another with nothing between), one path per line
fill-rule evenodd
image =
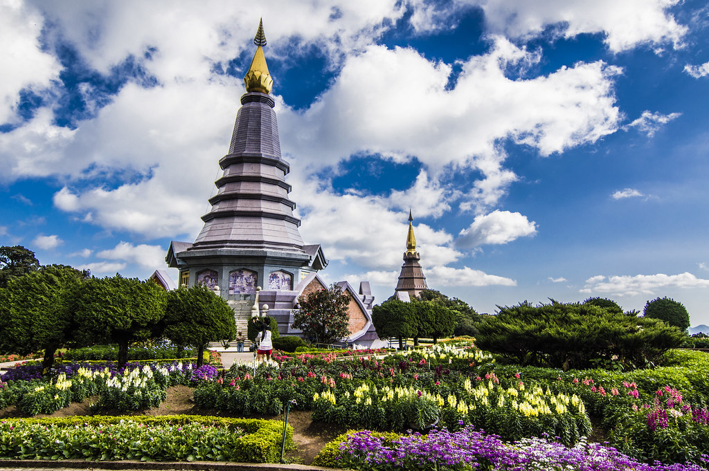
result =
M298 297L301 308L294 314L294 329L316 344L333 344L350 335L350 296L337 285Z

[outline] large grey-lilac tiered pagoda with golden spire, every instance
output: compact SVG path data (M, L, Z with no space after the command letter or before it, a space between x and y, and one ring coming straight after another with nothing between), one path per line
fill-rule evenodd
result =
M172 241L165 261L179 270L179 285L204 284L227 300L238 329L246 329L259 302L268 305L281 335L297 335L290 325L298 297L327 288L317 272L328 266L328 259L319 244L303 243L301 221L293 213L296 203L288 197L291 186L285 176L290 167L281 158L262 23L254 44L229 152L219 160L223 172L215 182L218 191L208 200L211 210L202 216L204 224L194 242ZM376 334L369 283L357 291L347 282L338 285L351 298L346 341L371 344ZM262 288L258 297L257 287Z

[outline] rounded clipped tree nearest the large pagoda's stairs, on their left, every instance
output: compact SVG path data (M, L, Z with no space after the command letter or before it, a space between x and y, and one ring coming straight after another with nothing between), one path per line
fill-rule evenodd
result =
M205 285L169 291L163 324L164 337L197 348L197 368L209 342L232 341L236 336L234 311Z

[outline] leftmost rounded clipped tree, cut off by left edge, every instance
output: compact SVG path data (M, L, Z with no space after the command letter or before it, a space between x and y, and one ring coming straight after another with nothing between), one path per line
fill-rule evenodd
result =
M0 351L28 355L44 350L43 367L51 368L57 348L74 329L73 312L63 297L86 276L70 266L51 265L9 280L0 290Z

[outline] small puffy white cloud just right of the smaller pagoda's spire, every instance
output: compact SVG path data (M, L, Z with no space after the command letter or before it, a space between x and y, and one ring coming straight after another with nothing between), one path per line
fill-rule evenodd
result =
M536 223L519 212L494 210L476 216L472 224L460 232L455 244L462 249L471 249L485 244L507 244L536 233Z

